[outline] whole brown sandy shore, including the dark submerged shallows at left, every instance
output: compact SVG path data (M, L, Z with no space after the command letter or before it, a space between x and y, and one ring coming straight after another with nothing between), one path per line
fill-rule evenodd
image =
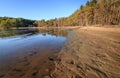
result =
M71 28L59 51L31 52L5 75L5 78L110 78L120 77L120 28ZM116 64L116 67L114 66ZM14 65L13 65L14 66ZM109 69L111 68L111 69Z

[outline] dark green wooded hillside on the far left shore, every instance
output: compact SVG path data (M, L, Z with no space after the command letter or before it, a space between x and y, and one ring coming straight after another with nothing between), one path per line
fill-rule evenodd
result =
M33 25L33 20L12 17L0 17L0 28L8 29L12 27L28 27Z

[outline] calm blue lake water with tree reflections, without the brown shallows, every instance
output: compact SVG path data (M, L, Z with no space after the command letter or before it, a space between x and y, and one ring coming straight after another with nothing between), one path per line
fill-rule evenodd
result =
M63 29L19 29L0 31L0 64L10 58L28 52L43 52L41 48L56 52L66 41L67 31Z

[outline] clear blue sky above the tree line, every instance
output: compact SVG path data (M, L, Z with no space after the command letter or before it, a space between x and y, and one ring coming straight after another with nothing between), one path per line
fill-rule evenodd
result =
M0 0L0 17L49 20L68 17L87 0Z

